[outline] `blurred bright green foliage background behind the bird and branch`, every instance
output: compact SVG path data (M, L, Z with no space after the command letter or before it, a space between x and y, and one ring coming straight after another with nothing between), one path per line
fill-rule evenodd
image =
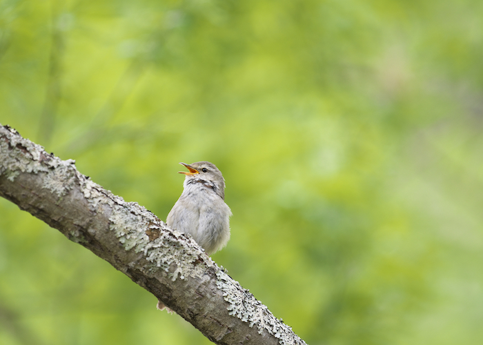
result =
M483 2L0 0L0 123L165 219L308 344L481 344ZM210 344L0 199L0 344Z

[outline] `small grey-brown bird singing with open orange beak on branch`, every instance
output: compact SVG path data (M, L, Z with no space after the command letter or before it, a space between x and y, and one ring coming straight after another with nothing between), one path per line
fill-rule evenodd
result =
M230 208L225 203L225 179L215 164L197 161L180 162L188 171L183 193L172 206L166 225L181 233L189 234L208 255L224 248L230 239ZM172 311L158 300L157 308Z

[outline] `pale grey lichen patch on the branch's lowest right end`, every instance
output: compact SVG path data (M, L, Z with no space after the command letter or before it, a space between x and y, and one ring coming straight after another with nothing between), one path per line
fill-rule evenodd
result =
M292 328L273 316L268 308L257 301L238 282L233 280L223 270L217 270L217 288L219 288L228 306L228 313L238 317L243 322L248 322L250 327L256 326L258 333L267 331L277 339L279 344L306 344L292 331Z

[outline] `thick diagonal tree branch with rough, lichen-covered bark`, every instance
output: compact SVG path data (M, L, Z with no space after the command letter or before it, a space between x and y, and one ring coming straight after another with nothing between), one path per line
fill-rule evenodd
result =
M216 344L305 344L193 239L1 125L0 196L108 261Z

